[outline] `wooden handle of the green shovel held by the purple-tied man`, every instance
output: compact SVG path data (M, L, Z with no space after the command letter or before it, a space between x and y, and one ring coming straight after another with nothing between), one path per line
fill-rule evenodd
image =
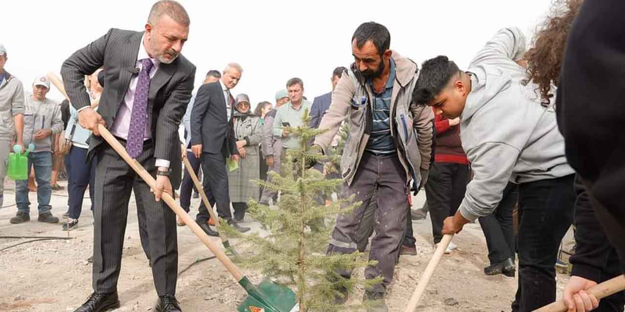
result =
M128 165L133 168L134 172L136 172L139 177L143 178L143 180L148 183L149 187L156 188L156 180L154 180L152 175L150 175L150 173L147 172L145 168L143 168L141 163L139 163L137 160L134 160L130 157L130 155L128 155L128 152L126 152L124 146L119 143L119 141L111 134L111 132L109 132L109 130L106 129L106 127L104 127L104 125L98 125L98 127L100 135L104 138L104 140L106 140L106 142L108 142L109 145L111 145L111 147L113 147L116 152L118 152L119 156L121 156L121 158L123 158L126 163L128 163ZM234 263L232 263L232 260L230 260L230 258L226 256L226 253L221 250L221 248L219 248L219 245L211 241L211 239L208 237L208 235L206 235L206 233L204 233L204 231L202 231L199 225L197 225L197 223L195 223L191 219L191 217L189 217L189 214L183 210L183 207L180 207L180 205L176 203L176 200L174 200L174 198L169 195L169 193L163 192L161 199L164 200L165 203L167 203L169 208L171 208L171 210L173 210L174 213L178 215L178 217L183 219L184 223L186 223L187 227L191 228L191 231L197 236L197 238L199 238L199 240L201 240L202 243L204 243L204 245L206 245L208 249L212 251L217 259L219 259L219 261L221 261L221 263L226 266L226 269L230 272L230 274L232 274L232 276L234 276L234 279L236 281L240 281L243 278L241 270L239 270L239 268Z

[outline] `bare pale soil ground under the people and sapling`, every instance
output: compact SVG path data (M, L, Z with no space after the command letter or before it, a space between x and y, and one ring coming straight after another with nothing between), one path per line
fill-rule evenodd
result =
M61 182L65 185L64 182ZM16 212L14 185L5 181L4 206L0 210L0 236L67 236L60 224L37 222L36 194L30 193L31 221L19 225L9 223ZM67 192L54 192L53 213L61 217L67 210ZM414 207L421 207L424 195L413 198ZM86 260L93 251L93 217L89 199L84 201L83 215L71 240L36 241L0 251L0 311L68 311L77 308L92 292L91 263ZM194 199L196 208L199 200ZM122 303L116 311L151 311L156 302L148 260L141 249L134 198L129 208L124 257L118 292ZM194 211L192 208L192 214ZM255 231L258 223L249 222ZM434 249L431 244L429 218L414 222L417 236L416 256L402 256L396 266L387 303L390 311L403 311L417 281ZM217 238L215 238L217 240ZM196 260L211 252L186 227L178 228L179 271L176 296L183 311L236 311L246 293L216 259ZM0 239L0 249L26 239ZM236 244L236 241L234 241ZM417 311L510 311L516 291L516 278L503 275L485 276L487 251L484 235L478 224L469 224L454 238L458 250L446 255L437 268ZM192 266L191 266L192 265ZM191 266L189 268L189 266ZM245 272L252 281L259 281L254 272ZM361 272L362 274L362 272ZM557 275L558 293L568 276ZM356 293L351 300L360 300Z

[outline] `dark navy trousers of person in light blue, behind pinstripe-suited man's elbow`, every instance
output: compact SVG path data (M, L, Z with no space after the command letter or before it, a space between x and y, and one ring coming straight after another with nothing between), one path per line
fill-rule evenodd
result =
M69 218L78 219L83 211L84 192L89 185L89 198L93 211L94 178L96 177L96 159L87 162L87 149L73 146L69 151Z

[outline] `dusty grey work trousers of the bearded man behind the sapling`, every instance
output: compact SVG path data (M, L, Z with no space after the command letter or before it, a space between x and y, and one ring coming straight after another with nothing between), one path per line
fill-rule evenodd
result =
M377 156L369 152L362 155L352 184L344 187L343 197L354 195L354 202L362 202L351 213L339 215L327 253L353 253L357 248L357 235L362 217L376 192L377 205L374 212L374 230L371 240L369 260L378 261L375 266L367 266L365 278L371 280L382 276L384 280L371 288L371 291L384 293L391 283L399 245L406 227L408 209L408 189L406 171L397 154ZM345 278L351 271L340 272Z

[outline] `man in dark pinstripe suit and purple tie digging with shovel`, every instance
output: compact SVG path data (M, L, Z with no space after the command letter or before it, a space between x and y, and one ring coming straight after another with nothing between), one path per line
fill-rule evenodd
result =
M79 122L93 130L89 161L96 164L93 289L76 312L119 307L117 283L121 268L128 203L134 190L142 241L147 242L156 293L154 311L181 311L176 300L178 243L176 218L161 202L180 183L178 127L191 99L196 67L181 50L189 32L189 16L175 1L152 7L144 32L111 29L103 37L74 52L61 69ZM98 112L90 107L84 75L104 67L104 90ZM153 176L150 187L99 137L103 124L118 137L128 154ZM170 166L171 165L171 166ZM169 169L171 167L171 170ZM171 171L171 181L169 180Z

